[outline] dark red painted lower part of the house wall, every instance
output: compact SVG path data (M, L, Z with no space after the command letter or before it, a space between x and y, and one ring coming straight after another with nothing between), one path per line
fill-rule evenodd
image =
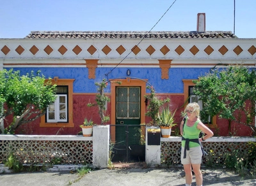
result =
M161 94L159 97L163 99L166 98L166 95ZM168 95L170 98L170 109L174 111L176 108L175 122L177 126L173 127L173 130L176 127L179 127L182 117L180 115L181 111L184 110L182 105L184 104L184 96L182 95ZM100 124L100 117L97 106L88 107L88 103L94 103L95 95L86 95L86 94L74 94L73 96L73 122L74 127L40 127L40 119L29 124L22 125L15 131L15 134L40 134L40 135L77 135L81 132L79 125L83 124L84 118L89 120L92 118L95 124ZM106 115L110 115L111 102L108 103L108 110ZM7 127L10 124L12 117L6 117L4 120L4 127ZM146 123L150 122L150 118L146 117ZM110 122L109 122L110 124ZM212 128L215 136L229 136L228 132L228 121L224 119L219 119L217 117L218 129ZM250 127L246 127L243 124L231 124L232 136L251 136L252 130Z

